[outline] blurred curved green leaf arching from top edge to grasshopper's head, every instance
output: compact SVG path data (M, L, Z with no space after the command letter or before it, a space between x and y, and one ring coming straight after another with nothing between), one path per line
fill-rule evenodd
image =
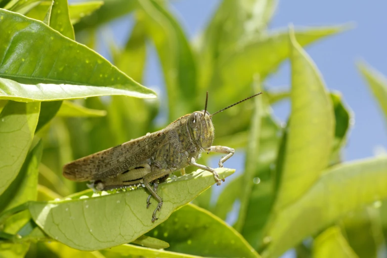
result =
M196 64L179 23L155 0L139 0L140 20L153 40L164 72L169 102L169 119L191 113L196 101ZM142 15L141 15L142 14ZM139 19L140 19L139 18ZM202 106L202 105L201 105Z

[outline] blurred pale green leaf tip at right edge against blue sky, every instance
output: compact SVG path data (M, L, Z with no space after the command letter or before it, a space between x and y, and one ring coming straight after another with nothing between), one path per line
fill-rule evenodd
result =
M357 68L368 83L387 119L387 78L365 62L359 62Z

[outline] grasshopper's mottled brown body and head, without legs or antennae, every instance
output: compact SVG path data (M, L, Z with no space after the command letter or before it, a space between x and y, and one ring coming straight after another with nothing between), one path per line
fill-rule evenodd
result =
M200 112L198 116L202 114ZM148 173L153 175L151 180L144 180L141 183L148 183L183 169L189 165L191 158L197 160L200 153L211 147L214 141L214 126L211 119L201 120L202 123L192 129L188 125L190 116L191 114L180 117L160 131L66 164L63 175L75 181L97 181L104 178L113 179L124 172L128 173L129 170L132 172L121 178L131 181L128 184L122 182L124 185L131 185L139 183L133 180L140 180ZM149 165L148 171L140 170L146 164ZM136 172L137 170L140 173ZM119 180L110 181L119 183ZM117 186L123 184L119 183Z

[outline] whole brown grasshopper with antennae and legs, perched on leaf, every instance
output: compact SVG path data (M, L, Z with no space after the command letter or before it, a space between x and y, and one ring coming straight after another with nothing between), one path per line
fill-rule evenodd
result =
M163 200L157 194L158 182L172 172L180 170L184 174L185 167L194 166L212 172L216 184L221 184L214 169L197 163L202 152L223 153L226 155L219 160L219 168L222 168L234 154L232 148L212 146L215 131L212 117L261 93L210 114L207 92L204 110L182 116L165 129L68 163L63 167L63 175L74 181L90 181L91 187L98 191L144 185L150 192L146 207L149 208L152 196L158 202L152 215L154 222L156 213L163 206Z

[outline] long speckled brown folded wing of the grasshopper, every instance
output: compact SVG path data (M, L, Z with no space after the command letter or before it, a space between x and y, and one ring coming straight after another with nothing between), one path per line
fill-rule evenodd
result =
M63 175L74 181L112 177L151 158L167 143L164 130L156 131L68 163L63 167Z

